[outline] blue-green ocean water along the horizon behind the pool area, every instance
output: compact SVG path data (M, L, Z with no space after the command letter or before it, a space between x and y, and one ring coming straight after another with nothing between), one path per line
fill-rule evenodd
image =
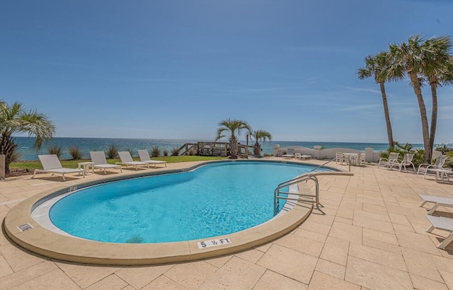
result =
M110 145L115 144L118 151L132 150L134 155L137 154L138 149L148 149L151 151L151 147L158 146L161 151L163 149L168 150L168 154L171 153L171 149L179 148L185 143L196 143L197 141L212 141L212 140L178 140L178 139L120 139L120 138L69 138L69 137L57 137L43 144L40 151L33 148L33 138L28 137L16 137L16 144L19 145L20 160L38 160L38 154L48 154L48 148L52 145L56 145L62 148L62 159L70 159L69 147L79 147L83 154L83 157L89 159L90 151L106 151ZM246 141L241 141L241 144L246 144ZM253 141L248 142L249 145L253 144ZM323 142L323 141L265 141L262 144L262 154L272 154L274 145L280 144L280 147L288 146L304 146L313 148L313 146L323 146L323 148L350 148L365 151L365 148L373 148L374 151L384 151L389 147L387 143L345 143L345 142ZM415 148L423 148L423 144L413 144Z

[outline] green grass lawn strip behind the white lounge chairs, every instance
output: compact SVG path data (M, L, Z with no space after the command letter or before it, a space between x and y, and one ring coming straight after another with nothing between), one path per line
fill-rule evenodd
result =
M151 158L151 160L160 160L160 161L167 161L168 163L175 163L175 162L189 162L189 161L210 161L210 160L220 160L225 159L225 157L219 156L163 156L157 158ZM84 161L91 161L90 159L86 160L61 160L63 167L66 168L77 168L79 162ZM107 159L108 163L115 164L115 162L120 161L120 159ZM139 158L134 158L134 161L139 161ZM40 161L21 161L21 162L13 162L9 166L10 169L42 169Z

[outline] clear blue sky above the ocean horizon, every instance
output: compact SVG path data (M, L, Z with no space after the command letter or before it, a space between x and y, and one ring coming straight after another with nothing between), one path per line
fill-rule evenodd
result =
M386 142L367 54L453 35L449 0L2 1L0 99L56 137L213 139L226 118L276 141ZM422 143L408 80L386 84L394 139ZM430 116L430 91L424 88ZM453 141L453 86L436 143Z

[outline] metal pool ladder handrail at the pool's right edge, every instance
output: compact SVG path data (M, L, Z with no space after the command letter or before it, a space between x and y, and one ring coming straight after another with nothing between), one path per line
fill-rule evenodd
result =
M315 195L308 195L300 192L290 192L289 190L288 192L281 191L282 188L289 187L290 185L294 185L299 182L307 180L313 180L315 182ZM286 194L288 196L282 197L280 196L280 194ZM289 195L297 195L297 198L289 197ZM279 199L299 201L300 200L299 197L314 197L315 198L314 201L316 202L316 209L319 209L319 182L318 178L316 178L316 175L312 173L304 173L302 175L297 176L296 178L292 178L290 180L280 183L274 190L274 216L278 213L278 207L280 204Z

